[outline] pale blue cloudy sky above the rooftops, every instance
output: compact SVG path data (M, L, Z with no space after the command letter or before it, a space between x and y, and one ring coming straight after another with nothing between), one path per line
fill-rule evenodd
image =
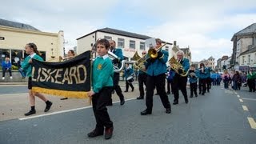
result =
M231 55L233 34L256 22L255 0L0 0L0 18L58 33L65 46L105 27L126 30L179 47L190 46L192 61Z

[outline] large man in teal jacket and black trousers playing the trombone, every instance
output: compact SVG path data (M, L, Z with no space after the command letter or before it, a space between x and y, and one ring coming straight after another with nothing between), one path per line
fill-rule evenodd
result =
M146 110L141 112L142 115L152 114L153 107L153 95L154 95L154 87L156 86L158 94L161 98L162 105L166 108L166 113L170 114L170 102L168 96L166 94L166 62L168 61L168 52L166 50L158 50L162 41L157 38L154 50L158 55L157 58L153 58L148 53L148 57L146 60ZM155 54L155 55L156 55Z

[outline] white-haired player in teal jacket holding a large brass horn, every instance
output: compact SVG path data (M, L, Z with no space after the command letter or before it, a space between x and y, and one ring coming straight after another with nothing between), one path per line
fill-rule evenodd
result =
M176 53L177 55L177 60L179 63L182 64L183 66L183 70L182 69L178 69L178 73L175 72L174 74L174 79L173 82L171 83L172 87L174 88L174 105L178 104L178 90L182 91L182 94L184 96L185 102L188 103L189 100L187 98L187 93L186 93L186 82L187 82L187 75L186 76L182 76L181 74L183 72L187 72L187 70L189 70L190 68L190 62L187 58L184 58L184 52L182 50L178 50L178 52ZM172 66L171 66L172 67Z

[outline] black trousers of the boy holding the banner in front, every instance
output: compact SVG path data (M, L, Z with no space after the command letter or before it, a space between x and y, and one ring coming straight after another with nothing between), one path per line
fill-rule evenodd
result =
M96 129L98 132L103 132L104 126L110 128L113 122L106 109L106 104L110 101L112 86L103 87L99 93L94 94L92 98L94 116L96 119Z

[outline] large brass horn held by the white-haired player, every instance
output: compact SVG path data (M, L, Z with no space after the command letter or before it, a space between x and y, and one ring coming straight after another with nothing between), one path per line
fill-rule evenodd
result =
M182 70L182 74L179 74L179 75L182 76L182 77L187 76L189 71L185 72L182 64L180 63L180 61L177 61L177 59L174 56L172 58L170 58L170 60L168 62L169 62L170 68L172 70L174 70L177 74L179 74L178 70Z

